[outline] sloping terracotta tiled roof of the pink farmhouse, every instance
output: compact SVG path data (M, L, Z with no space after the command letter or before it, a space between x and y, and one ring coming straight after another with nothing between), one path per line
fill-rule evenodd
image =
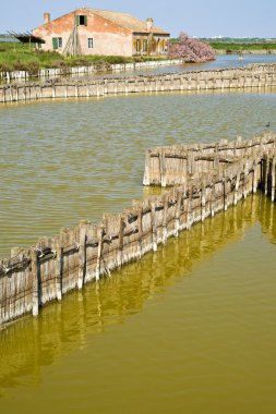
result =
M109 12L107 10L98 10L98 9L86 9L86 10L89 10L92 13L97 14L106 20L109 20L110 22L116 23L119 26L129 28L132 32L149 33L146 28L146 22L145 21L143 22L140 19L133 17L131 14L120 13L120 12ZM168 32L155 26L153 26L151 32L154 34L169 35Z

